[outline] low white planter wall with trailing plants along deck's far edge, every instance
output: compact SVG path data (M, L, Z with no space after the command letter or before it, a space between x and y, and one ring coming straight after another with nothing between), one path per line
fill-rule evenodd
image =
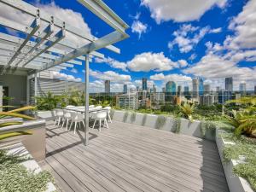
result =
M113 119L117 121L165 131L179 132L184 135L200 137L207 140L215 141L215 132L213 132L212 134L211 130L206 130L206 133L204 135L202 134L201 121L195 120L193 122L190 122L187 119L176 119L163 115L134 113L119 110L112 110L112 113ZM179 131L177 131L177 125L180 125Z

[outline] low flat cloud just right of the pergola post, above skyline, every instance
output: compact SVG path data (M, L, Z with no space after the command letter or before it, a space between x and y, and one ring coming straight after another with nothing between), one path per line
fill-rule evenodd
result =
M113 71L99 72L99 71L93 71L90 69L90 76L96 79L110 80L111 82L114 82L114 83L125 83L125 82L131 81L130 75L119 74Z

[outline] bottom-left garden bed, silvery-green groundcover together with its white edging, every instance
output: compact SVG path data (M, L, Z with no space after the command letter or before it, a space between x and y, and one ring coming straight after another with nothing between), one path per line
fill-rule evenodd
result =
M0 149L0 191L56 191L53 177L42 171L22 143Z

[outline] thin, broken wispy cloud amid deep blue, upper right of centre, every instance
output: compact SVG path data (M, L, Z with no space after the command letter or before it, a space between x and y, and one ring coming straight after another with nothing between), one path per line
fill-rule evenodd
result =
M168 48L172 49L177 44L181 53L188 53L207 33L218 32L221 32L221 28L211 29L210 26L200 28L198 26L191 26L191 24L184 24L177 31L173 32L175 38L172 42L168 43Z

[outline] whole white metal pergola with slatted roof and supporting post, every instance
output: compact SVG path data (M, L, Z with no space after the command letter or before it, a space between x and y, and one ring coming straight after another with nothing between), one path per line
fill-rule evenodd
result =
M115 53L120 50L112 44L129 36L125 30L129 27L102 0L78 0L84 7L113 28L113 32L102 38L87 35L81 29L68 24L65 20L55 18L43 10L21 0L0 0L4 6L9 6L20 15L32 17L30 25L25 26L8 17L0 16L0 26L25 34L20 38L15 34L0 32L0 74L15 73L16 70L26 70L33 74L35 82L37 73L44 70L60 71L74 65L82 65L85 61L85 129L84 145L89 142L89 61L93 56L104 58L96 50L106 48ZM22 17L20 17L22 18ZM67 38L72 35L81 39L83 45L78 45Z

